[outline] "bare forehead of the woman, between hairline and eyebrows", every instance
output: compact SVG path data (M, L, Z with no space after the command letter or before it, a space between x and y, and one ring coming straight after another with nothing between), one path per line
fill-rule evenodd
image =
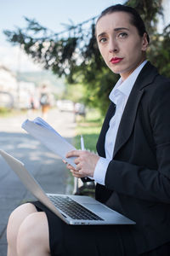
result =
M99 19L96 25L96 34L101 32L107 32L109 30L114 30L117 27L126 27L128 29L134 27L131 22L130 14L126 12L113 12L108 15L104 15Z

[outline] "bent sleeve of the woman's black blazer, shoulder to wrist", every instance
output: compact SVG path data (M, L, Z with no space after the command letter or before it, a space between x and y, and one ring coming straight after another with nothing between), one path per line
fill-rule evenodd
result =
M156 149L157 169L111 160L105 187L146 201L170 203L170 83L152 86L147 111ZM140 152L139 152L140 154Z

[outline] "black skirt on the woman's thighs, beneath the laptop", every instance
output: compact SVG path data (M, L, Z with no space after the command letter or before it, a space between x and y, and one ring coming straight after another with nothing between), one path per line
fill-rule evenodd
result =
M31 202L48 218L52 256L136 256L128 225L65 224L39 201Z

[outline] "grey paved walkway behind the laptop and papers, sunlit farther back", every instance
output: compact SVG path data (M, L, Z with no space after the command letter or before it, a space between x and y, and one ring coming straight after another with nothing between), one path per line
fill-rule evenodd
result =
M48 193L72 193L70 176L63 162L41 143L22 131L20 125L40 113L26 113L13 118L0 118L0 148L23 161ZM72 113L50 110L47 121L71 142L75 123ZM0 256L7 255L6 226L8 216L23 201L34 199L0 156Z

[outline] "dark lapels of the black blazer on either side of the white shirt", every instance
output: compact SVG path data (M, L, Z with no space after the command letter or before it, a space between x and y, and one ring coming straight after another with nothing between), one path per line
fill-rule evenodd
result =
M141 72L139 73L138 78L136 79L135 84L133 85L133 90L127 100L124 113L122 115L121 123L117 131L116 144L114 148L113 157L123 144L127 142L133 131L133 124L136 118L136 113L138 110L139 102L144 93L144 87L153 82L153 79L157 75L156 67L150 64L150 61L146 63ZM109 123L112 116L115 114L116 105L111 102L110 107L106 113L105 121L102 126L102 129L99 134L98 143L96 145L98 154L105 157L105 134L109 129Z

